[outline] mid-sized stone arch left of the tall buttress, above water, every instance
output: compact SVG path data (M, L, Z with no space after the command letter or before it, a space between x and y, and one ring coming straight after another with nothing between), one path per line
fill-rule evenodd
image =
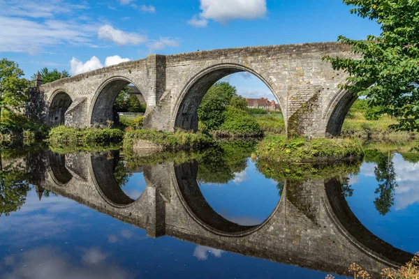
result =
M133 80L123 76L110 77L102 82L91 100L88 114L90 126L106 126L107 120L118 121L117 113L113 110L113 106L118 93L128 84L133 84L137 87L145 100L148 100L145 95L145 89L133 82Z

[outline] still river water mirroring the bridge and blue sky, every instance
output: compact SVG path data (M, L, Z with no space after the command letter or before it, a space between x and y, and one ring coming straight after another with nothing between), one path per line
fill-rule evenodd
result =
M0 278L337 278L419 251L419 156L3 153Z

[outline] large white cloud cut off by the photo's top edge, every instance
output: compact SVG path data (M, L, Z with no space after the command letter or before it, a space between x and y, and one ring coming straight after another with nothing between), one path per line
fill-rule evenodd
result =
M200 0L199 15L194 15L189 24L205 27L206 20L226 24L229 20L254 20L267 13L266 0Z

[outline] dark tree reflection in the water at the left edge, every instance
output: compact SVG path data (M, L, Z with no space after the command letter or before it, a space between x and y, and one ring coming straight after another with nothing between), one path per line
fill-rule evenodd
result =
M0 216L18 211L26 201L31 188L26 182L25 169L10 164L0 169Z

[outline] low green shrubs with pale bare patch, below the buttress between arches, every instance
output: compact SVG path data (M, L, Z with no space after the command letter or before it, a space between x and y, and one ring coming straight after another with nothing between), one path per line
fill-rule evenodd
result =
M153 130L128 130L124 135L124 151L201 149L214 144L209 135L186 132L157 132Z

